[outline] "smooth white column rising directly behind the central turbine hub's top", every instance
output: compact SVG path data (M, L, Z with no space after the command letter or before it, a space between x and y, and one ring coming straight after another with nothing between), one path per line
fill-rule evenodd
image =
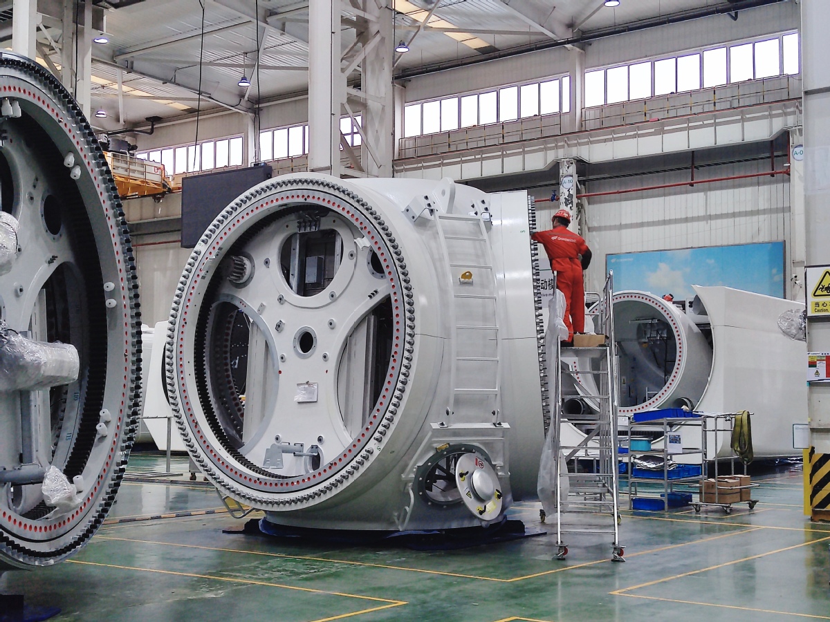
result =
M341 84L342 83L342 84ZM340 3L309 4L309 170L340 174Z

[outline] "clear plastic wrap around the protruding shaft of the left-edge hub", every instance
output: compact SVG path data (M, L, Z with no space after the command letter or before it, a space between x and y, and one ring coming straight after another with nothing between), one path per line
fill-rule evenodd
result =
M41 391L76 381L75 346L32 341L0 321L0 391Z

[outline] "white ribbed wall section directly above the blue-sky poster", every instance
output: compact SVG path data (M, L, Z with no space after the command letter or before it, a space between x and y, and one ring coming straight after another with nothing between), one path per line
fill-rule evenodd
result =
M697 171L698 179L769 170L769 161ZM588 192L682 182L689 172L659 173L590 182ZM586 239L593 250L588 289L603 283L605 255L750 242L784 241L784 279L789 294L789 177L754 177L730 182L591 197ZM666 292L655 292L666 294Z

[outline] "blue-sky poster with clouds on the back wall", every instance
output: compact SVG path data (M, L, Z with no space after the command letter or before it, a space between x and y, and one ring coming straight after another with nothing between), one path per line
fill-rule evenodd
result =
M694 285L725 285L784 298L784 242L706 246L606 255L614 289L638 289L675 300L694 297Z

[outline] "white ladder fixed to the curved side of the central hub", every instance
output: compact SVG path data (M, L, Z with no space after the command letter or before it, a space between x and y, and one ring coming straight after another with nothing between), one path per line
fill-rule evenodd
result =
M501 342L496 270L485 221L436 212L435 222L452 292L447 417L480 416L487 408L498 423Z

